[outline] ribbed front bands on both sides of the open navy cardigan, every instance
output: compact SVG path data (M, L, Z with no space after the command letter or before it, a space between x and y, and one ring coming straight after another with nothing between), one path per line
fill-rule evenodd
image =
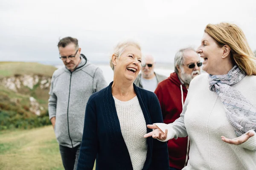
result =
M132 170L133 168L131 164L131 158L130 158L127 146L125 144L125 141L122 137L120 123L116 113L115 101L112 95L112 84L113 82L111 82L108 85L108 88L105 91L106 93L103 96L103 104L105 108L104 117L106 120L105 123L107 125L106 128L109 129L109 140L111 141L111 144L112 144L111 147L113 147L113 152L115 152L118 155L117 157L118 160L116 160L116 165L120 166L118 167L118 169ZM152 124L148 107L145 106L145 104L150 105L150 103L147 103L145 99L143 99L142 94L140 93L140 89L137 88L135 84L133 85L134 85L134 91L140 103L141 110L143 111L143 116L145 118L146 125ZM147 133L149 132L151 132L151 129L147 128ZM145 160L143 170L147 170L148 167L150 166L150 162L152 159L153 139L147 138L147 144L148 144L148 152L147 152L147 157Z

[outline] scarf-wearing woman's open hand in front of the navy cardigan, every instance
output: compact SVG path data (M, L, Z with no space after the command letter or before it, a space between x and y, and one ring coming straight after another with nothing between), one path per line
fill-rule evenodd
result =
M147 125L147 127L155 130L145 134L144 138L152 136L152 138L159 139L161 141L164 141L167 138L167 133L168 133L167 129L165 130L165 132L163 132L157 125Z

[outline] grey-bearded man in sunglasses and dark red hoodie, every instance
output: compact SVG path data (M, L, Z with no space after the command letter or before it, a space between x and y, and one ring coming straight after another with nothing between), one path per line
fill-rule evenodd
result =
M175 55L175 72L160 82L154 91L161 105L163 122L174 122L180 117L191 80L201 74L200 57L193 48L180 49ZM170 170L181 170L186 166L189 139L178 138L168 141Z

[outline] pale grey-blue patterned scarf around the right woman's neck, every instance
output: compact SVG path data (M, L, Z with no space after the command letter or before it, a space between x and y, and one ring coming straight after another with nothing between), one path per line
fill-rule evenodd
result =
M227 74L209 74L209 89L215 92L224 105L225 113L237 136L256 130L256 108L232 85L245 77L235 65Z

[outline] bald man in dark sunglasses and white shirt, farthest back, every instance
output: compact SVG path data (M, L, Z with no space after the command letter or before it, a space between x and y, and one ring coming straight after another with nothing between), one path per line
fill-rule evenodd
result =
M167 79L167 77L154 72L154 57L145 55L146 65L141 69L141 74L135 79L134 84L145 90L154 92L159 82Z

